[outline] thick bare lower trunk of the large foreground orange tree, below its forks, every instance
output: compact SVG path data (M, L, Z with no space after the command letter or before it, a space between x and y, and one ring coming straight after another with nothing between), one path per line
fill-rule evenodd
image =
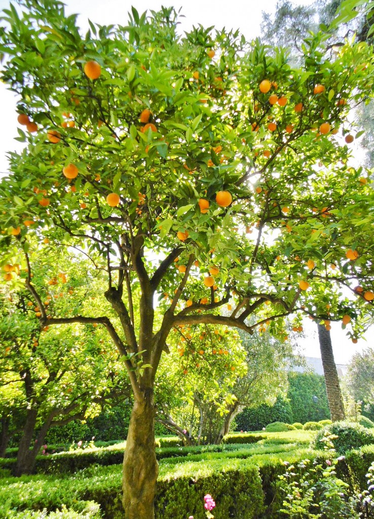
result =
M158 463L155 452L153 388L135 399L123 458L123 507L126 519L154 519Z

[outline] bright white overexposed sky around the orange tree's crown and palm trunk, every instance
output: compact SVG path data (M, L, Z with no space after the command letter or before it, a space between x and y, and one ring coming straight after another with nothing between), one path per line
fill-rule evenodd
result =
M167 0L66 0L66 13L79 13L78 24L82 30L87 30L89 18L101 25L119 23L126 24L127 13L133 5L139 13L147 9L158 10L161 5L170 6ZM298 0L297 4L310 5L311 0ZM182 7L181 32L188 31L193 25L205 27L214 25L217 29L239 29L247 39L260 36L262 11L273 12L276 0L187 0L184 3L175 2L178 10ZM9 6L8 0L0 0L0 10ZM8 170L6 152L20 151L22 145L13 140L17 136L16 99L12 92L6 90L0 83L0 113L3 124L0 125L0 173ZM317 327L309 319L303 322L304 337L298 343L308 357L320 357ZM331 340L333 342L335 361L346 364L356 351L362 351L368 346L374 346L374 331L366 334L366 341L359 339L356 345L345 336L339 323L331 323Z

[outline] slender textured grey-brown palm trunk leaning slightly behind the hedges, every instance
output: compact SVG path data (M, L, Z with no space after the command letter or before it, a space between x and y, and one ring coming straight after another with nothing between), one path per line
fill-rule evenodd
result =
M330 332L326 330L325 326L322 324L318 324L317 326L331 420L344 420L344 405L341 396L338 372L334 360L333 347L331 346Z

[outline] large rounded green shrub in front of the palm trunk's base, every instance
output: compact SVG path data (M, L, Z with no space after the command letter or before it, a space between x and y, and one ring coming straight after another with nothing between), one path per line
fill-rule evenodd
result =
M365 429L362 425L353 422L341 421L327 425L319 431L312 443L314 448L323 448L321 440L326 433L338 436L334 439L334 446L339 454L345 454L347 451L363 445L374 444L374 431Z

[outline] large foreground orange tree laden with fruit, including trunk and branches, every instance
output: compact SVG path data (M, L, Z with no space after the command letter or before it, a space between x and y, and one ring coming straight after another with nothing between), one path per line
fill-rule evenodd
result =
M27 250L47 229L100 253L120 325L104 310L48 321L102 323L123 356L134 394L123 503L126 517L148 519L154 380L173 327L261 326L286 340L290 313L347 315L355 339L372 310L372 189L336 136L372 92L372 53L346 44L324 60L319 34L292 69L282 50L238 33L178 36L173 9L133 9L127 26L91 24L82 36L62 4L20 4L4 15L2 80L18 95L26 146L0 187L1 247Z

